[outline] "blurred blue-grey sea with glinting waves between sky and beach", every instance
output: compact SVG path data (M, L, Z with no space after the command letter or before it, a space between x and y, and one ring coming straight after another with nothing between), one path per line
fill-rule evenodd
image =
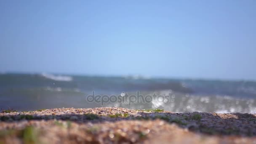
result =
M0 74L1 109L27 111L62 107L256 113L256 82Z

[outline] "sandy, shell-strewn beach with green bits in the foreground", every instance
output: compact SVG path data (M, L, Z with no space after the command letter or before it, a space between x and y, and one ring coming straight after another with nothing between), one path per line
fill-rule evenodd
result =
M0 113L0 144L256 144L255 114L120 107Z

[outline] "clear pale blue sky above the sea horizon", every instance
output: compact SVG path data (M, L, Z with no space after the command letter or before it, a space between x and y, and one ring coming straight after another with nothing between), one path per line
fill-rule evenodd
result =
M0 71L256 80L256 0L1 0Z

